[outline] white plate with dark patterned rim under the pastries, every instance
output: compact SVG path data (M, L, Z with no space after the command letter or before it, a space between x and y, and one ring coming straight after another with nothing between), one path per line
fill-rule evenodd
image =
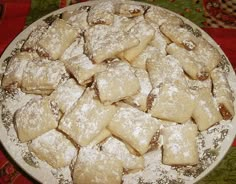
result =
M3 53L1 59L0 59L0 72L1 74L4 72L3 66L4 66L4 61L11 56L11 53L13 50L15 50L20 43L22 43L22 40L26 39L30 32L37 26L40 25L44 19L47 17L50 17L52 15L58 15L65 10L74 10L78 7L81 6L90 6L92 4L95 4L97 2L91 1L91 2L85 2L85 3L79 3L76 5L72 5L69 7L65 7L63 9L59 9L57 11L54 11L29 27L27 27L23 32L21 32L12 42L11 44L7 47L5 52ZM135 2L136 4L141 4L141 5L148 5L148 6L153 6L145 3L140 3L140 2ZM168 11L168 10L166 10ZM173 12L170 12L173 13ZM179 15L177 15L179 16ZM225 70L228 72L228 80L230 83L231 88L233 91L236 91L236 77L235 73L233 71L233 67L229 63L227 57L223 53L223 51L220 49L220 47L214 42L214 40L208 36L203 30L201 30L198 26L190 22L189 20L185 19L184 17L181 17L186 24L189 25L189 30L194 31L196 34L201 34L203 37L205 37L212 45L214 45L216 48L218 48L219 52L222 54L222 66L224 67ZM2 98L2 93L1 91L1 98ZM20 99L20 96L16 95L14 97L15 99L12 100L12 104L15 103L14 108L16 109L18 107L18 100ZM20 102L23 103L23 102ZM234 103L235 106L235 103ZM236 107L236 106L235 106ZM14 111L15 109L12 109ZM13 127L13 124L11 124L11 121L7 121L6 119L9 118L6 115L4 117L2 116L2 113L4 109L1 108L0 112L0 140L3 146L5 147L6 151L10 154L10 156L16 161L16 163L24 169L29 175L31 175L33 178L35 178L37 181L42 182L42 183L71 183L71 174L69 168L63 168L59 170L55 170L51 168L48 164L45 162L40 161L36 157L34 157L27 148L26 144L22 144L19 142L15 129ZM4 121L2 120L4 118ZM214 133L214 130L216 132ZM210 148L213 147L213 142L214 141L219 141L219 147L217 149L210 149L210 150L205 150L205 157L204 157L204 162L205 165L207 165L207 162L209 161L209 165L204 169L200 168L196 172L199 172L198 176L196 178L192 178L191 176L188 177L187 174L185 173L185 182L186 183L195 183L202 179L204 176L206 176L210 171L212 171L217 164L223 159L223 157L226 155L227 151L229 150L234 137L236 133L236 119L235 117L233 118L232 121L222 121L219 125L213 126L210 128L207 132L204 132L203 134L206 134L204 141L205 144ZM200 154L203 154L200 153ZM212 162L212 163L211 163ZM171 167L162 167L158 166L160 170L162 169L170 169ZM173 168L172 168L173 169ZM201 170L202 169L202 170ZM175 169L173 169L175 171ZM171 173L173 172L167 172L166 177L171 178ZM160 174L160 173L159 173ZM193 173L192 173L193 174ZM156 175L155 177L160 177L159 175ZM163 175L162 175L163 177ZM163 177L165 178L165 177ZM154 182L156 178L153 178ZM140 180L141 181L141 180ZM163 180L164 181L164 180ZM142 182L141 182L142 183Z

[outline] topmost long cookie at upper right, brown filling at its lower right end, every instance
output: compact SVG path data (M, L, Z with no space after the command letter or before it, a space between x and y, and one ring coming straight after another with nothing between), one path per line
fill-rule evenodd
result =
M160 26L160 30L171 41L184 47L186 50L194 50L198 45L199 39L181 25L166 22Z

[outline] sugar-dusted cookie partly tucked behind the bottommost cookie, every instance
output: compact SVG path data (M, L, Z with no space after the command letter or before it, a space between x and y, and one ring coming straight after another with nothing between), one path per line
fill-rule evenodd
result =
M126 145L114 137L108 138L102 144L102 150L120 160L123 167L127 170L140 170L144 168L144 158L131 154Z

